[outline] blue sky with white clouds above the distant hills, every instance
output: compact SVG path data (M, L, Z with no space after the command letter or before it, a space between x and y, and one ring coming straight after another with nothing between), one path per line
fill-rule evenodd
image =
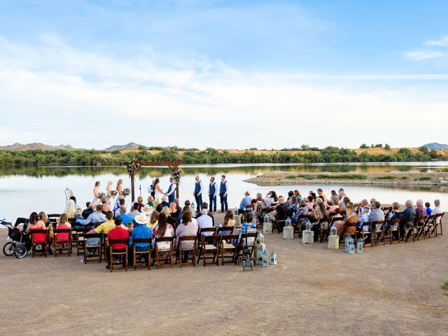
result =
M448 143L448 1L0 0L0 146Z

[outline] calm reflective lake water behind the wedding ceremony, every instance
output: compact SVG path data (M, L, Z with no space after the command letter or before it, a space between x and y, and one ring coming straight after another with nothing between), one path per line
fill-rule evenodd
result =
M374 163L374 164L314 164L314 165L197 165L185 166L181 180L181 203L193 199L195 174L200 174L204 186L207 186L209 176L219 179L225 174L229 183L229 207L239 205L244 191L251 195L261 192L264 195L269 190L276 190L278 195L286 195L288 190L297 189L302 195L309 190L322 187L324 193L343 187L351 200L358 202L363 198L376 197L380 202L394 201L404 203L407 199L433 202L436 198L442 201L442 209L448 211L448 193L446 189L430 188L393 188L385 186L276 186L258 187L243 180L252 176L275 170L290 172L437 172L446 171L448 162L405 162L405 163ZM155 177L159 177L162 188L169 184L171 170L163 167L144 167L136 176L136 197L146 198L147 189ZM27 217L31 211L60 213L65 206L65 188L73 190L78 202L84 204L92 200L94 181L101 181L102 190L106 190L109 180L116 184L118 179L125 181L125 187L130 187L130 179L125 167L29 167L0 169L0 218L13 220L18 216ZM127 202L130 202L128 197ZM218 201L219 202L219 201ZM219 204L218 204L219 207Z

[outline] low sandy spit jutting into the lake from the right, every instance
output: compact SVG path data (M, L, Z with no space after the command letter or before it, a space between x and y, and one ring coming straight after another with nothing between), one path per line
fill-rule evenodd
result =
M301 173L267 172L246 179L244 182L257 186L288 186L302 184L350 184L350 185L388 185L388 186L447 186L448 173Z

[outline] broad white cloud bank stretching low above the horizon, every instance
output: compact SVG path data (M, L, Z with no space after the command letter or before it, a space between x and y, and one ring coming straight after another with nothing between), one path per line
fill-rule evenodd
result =
M44 39L38 47L0 40L1 123L8 129L2 144L418 146L444 134L442 127L421 129L421 113L448 123L447 97L425 99L422 88L425 80L440 82L445 75L249 73L205 57L167 66L157 55L116 59ZM372 84L395 79L419 80L419 94ZM391 132L363 120L400 127ZM419 139L410 139L412 132Z

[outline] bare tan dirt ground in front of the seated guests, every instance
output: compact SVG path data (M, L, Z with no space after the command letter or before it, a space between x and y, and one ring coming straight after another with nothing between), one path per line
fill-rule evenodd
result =
M265 241L279 263L253 272L1 255L0 335L447 335L447 234L363 255Z

